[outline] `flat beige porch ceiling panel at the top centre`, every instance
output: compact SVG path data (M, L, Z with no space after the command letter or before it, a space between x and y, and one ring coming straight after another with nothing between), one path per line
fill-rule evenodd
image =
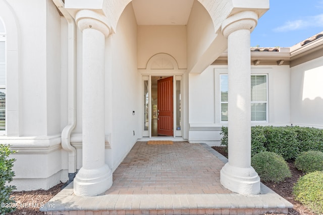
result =
M194 0L133 0L138 25L186 25Z

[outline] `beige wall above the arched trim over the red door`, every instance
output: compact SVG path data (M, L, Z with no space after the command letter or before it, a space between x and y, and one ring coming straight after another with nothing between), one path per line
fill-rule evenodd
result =
M173 56L179 68L186 68L186 26L138 26L138 68L146 68L155 54Z

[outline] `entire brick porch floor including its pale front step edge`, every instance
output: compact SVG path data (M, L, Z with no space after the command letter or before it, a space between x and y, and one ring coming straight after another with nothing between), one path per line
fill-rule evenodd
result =
M288 213L293 207L263 184L260 194L254 196L225 189L220 184L220 170L226 162L206 144L137 142L113 173L113 185L105 194L76 196L70 183L40 210L51 215L229 215Z

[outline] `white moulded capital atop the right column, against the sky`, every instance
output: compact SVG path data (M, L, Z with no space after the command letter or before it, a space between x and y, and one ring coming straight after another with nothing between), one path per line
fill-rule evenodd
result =
M225 37L235 31L246 29L253 31L258 22L258 15L253 11L243 11L228 17L222 23L222 33Z

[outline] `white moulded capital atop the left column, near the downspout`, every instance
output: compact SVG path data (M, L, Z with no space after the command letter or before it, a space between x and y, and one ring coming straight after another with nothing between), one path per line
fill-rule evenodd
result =
M84 29L95 29L104 34L105 37L111 33L111 27L107 18L91 10L78 11L75 15L75 22L81 31Z

